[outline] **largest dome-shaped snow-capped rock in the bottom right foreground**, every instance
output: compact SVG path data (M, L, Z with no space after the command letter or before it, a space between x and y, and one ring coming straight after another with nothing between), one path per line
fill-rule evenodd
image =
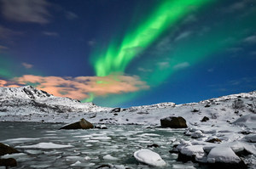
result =
M230 147L214 147L207 156L207 162L209 163L239 163L240 161L241 159Z

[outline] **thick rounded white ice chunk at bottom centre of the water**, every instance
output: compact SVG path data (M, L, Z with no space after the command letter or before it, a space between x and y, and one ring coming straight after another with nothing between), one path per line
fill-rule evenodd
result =
M149 166L166 166L166 162L162 160L159 154L154 153L150 149L140 149L134 153L137 161L148 164Z

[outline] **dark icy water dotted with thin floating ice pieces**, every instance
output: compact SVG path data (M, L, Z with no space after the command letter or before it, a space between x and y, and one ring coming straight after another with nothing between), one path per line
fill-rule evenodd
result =
M175 139L188 139L183 130L136 125L112 125L104 130L58 130L61 126L63 124L0 122L0 142L22 152L9 155L18 161L14 168L75 169L107 164L112 168L155 168L139 164L133 157L135 151L147 149L150 144L160 145L148 149L166 161L167 166L162 168L198 168L193 163L176 161L177 155L169 153Z

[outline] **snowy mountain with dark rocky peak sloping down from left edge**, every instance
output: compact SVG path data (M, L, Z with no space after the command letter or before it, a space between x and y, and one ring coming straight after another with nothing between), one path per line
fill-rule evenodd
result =
M55 97L32 86L0 87L1 119L10 115L41 114L41 116L48 116L52 114L91 113L108 110L111 110L111 108L103 108L92 103L81 103L77 99ZM21 117L20 121L22 121ZM31 121L33 120L31 119Z

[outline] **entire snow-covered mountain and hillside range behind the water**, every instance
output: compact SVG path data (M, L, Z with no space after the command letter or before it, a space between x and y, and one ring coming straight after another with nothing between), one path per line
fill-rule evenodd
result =
M73 122L85 118L94 123L160 125L166 116L183 116L190 125L209 117L212 123L236 121L256 113L256 91L207 99L199 103L172 102L111 111L76 99L55 97L35 87L1 87L0 121ZM256 128L256 127L255 127Z

